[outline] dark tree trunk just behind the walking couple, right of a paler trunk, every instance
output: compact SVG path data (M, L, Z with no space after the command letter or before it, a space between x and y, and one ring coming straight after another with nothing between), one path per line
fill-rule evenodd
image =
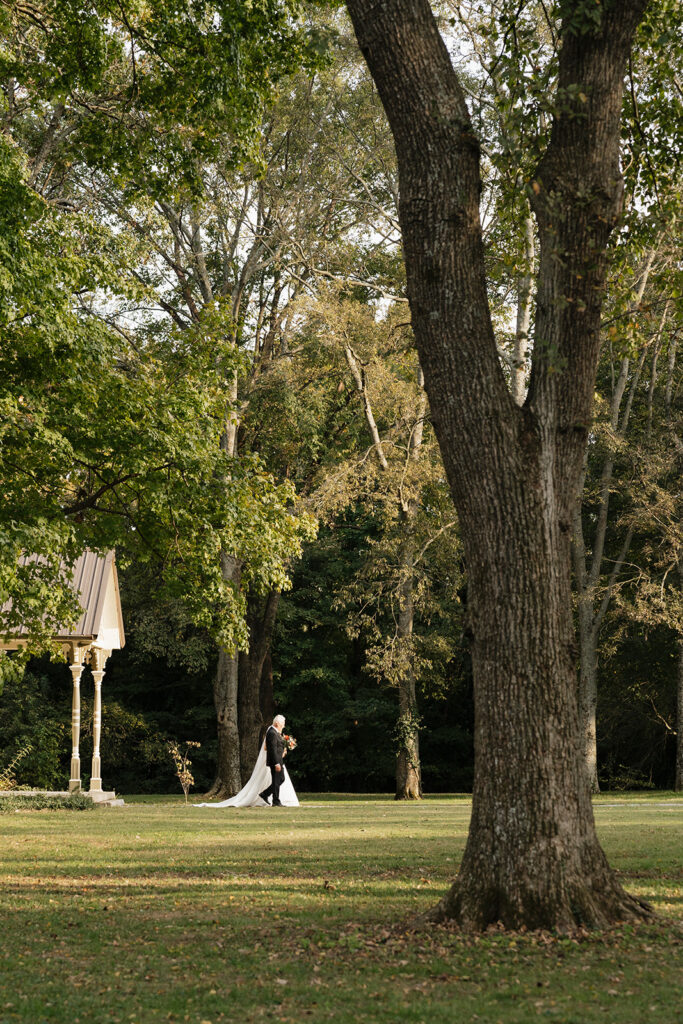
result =
M251 598L247 611L249 650L240 654L239 714L242 783L247 781L258 757L263 728L261 680L275 625L280 593L271 591L265 602Z

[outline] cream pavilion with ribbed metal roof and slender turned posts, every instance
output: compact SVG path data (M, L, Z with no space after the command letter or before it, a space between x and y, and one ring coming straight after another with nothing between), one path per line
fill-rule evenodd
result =
M35 556L25 555L23 562L30 562ZM65 628L53 639L65 652L73 679L72 696L72 757L69 792L81 788L81 676L89 663L95 684L92 716L92 771L90 775L90 796L93 800L113 800L114 793L102 791L99 737L102 725L102 679L104 667L113 650L119 650L126 642L121 614L121 598L116 561L113 551L96 555L85 551L76 564L72 578L72 590L78 595L83 614L73 629ZM0 648L15 650L26 641L26 630L19 627L11 637L0 639Z

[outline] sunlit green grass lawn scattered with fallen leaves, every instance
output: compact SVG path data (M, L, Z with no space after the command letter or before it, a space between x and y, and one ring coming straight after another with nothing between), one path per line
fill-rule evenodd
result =
M395 928L453 878L468 799L0 814L0 1022L678 1024L683 800L610 796L607 855L660 919L573 939Z

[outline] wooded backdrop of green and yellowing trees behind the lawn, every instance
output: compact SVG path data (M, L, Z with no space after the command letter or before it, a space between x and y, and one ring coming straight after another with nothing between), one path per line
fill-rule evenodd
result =
M537 260L524 104L552 45L529 10L522 80L512 60L490 74L505 4L443 7L470 41L463 74L493 154L489 302L522 398ZM666 13L643 29L625 101L629 202L573 524L587 759L606 786L674 783L683 688L680 151L666 70L648 62ZM25 249L8 255L3 325L2 582L16 607L44 606L51 583L17 579L16 551L56 564L116 544L128 645L106 677L108 784L169 790L172 736L202 741L199 785L234 792L282 711L304 791L468 790L467 580L408 323L391 138L348 26L311 12L279 67L275 29L255 23L272 87L247 104L223 67L223 105L206 82L199 123L144 46L154 26L136 68L116 34L67 24L63 46L92 34L57 83L49 29L3 16L2 215ZM675 34L661 45L674 53ZM5 675L0 760L32 743L19 781L57 784L68 676L44 660Z

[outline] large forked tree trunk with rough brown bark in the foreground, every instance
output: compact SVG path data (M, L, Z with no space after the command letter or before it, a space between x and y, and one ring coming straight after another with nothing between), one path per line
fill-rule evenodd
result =
M472 818L459 876L430 919L568 930L642 915L595 833L580 743L569 539L605 246L621 211L622 83L645 0L603 4L600 29L581 35L567 27L581 4L561 5L558 112L531 196L538 300L521 408L488 309L479 146L430 5L347 6L394 136L413 328L469 579Z

